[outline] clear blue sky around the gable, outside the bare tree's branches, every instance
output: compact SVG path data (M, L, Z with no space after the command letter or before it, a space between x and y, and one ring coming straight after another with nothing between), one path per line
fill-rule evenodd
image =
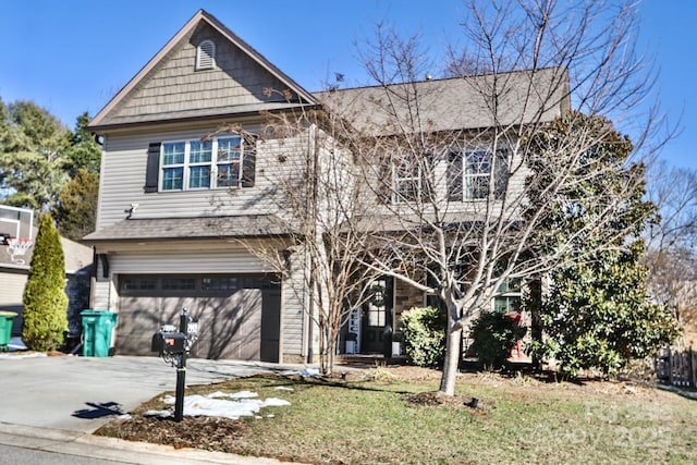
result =
M5 0L0 3L0 98L34 100L73 127L98 112L203 8L308 90L334 72L367 78L355 41L388 21L420 32L430 51L462 42L460 0ZM663 149L697 170L697 1L644 0L640 45L656 57L661 108L681 133ZM435 73L436 74L436 73Z

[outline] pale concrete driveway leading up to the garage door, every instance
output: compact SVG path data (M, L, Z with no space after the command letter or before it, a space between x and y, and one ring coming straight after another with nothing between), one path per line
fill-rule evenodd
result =
M234 360L189 359L186 386L299 369ZM158 357L0 356L0 423L94 432L163 391L176 369Z

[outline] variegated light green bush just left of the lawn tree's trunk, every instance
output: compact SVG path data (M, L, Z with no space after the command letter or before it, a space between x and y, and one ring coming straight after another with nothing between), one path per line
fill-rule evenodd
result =
M435 307L414 307L402 314L402 338L408 363L441 367L445 355L445 315Z

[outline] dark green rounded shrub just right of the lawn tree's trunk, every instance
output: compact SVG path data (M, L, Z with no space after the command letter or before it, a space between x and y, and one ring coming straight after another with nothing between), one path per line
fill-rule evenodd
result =
M511 350L524 331L505 311L482 311L472 323L469 348L486 369L498 370L505 367Z

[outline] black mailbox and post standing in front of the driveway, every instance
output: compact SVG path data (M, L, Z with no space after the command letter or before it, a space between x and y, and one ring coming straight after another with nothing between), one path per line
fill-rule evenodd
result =
M164 362L176 367L176 399L174 401L174 421L184 418L184 390L186 380L186 356L198 339L198 321L193 319L186 308L179 319L179 332L173 325L166 325L152 336L152 352L158 352Z

